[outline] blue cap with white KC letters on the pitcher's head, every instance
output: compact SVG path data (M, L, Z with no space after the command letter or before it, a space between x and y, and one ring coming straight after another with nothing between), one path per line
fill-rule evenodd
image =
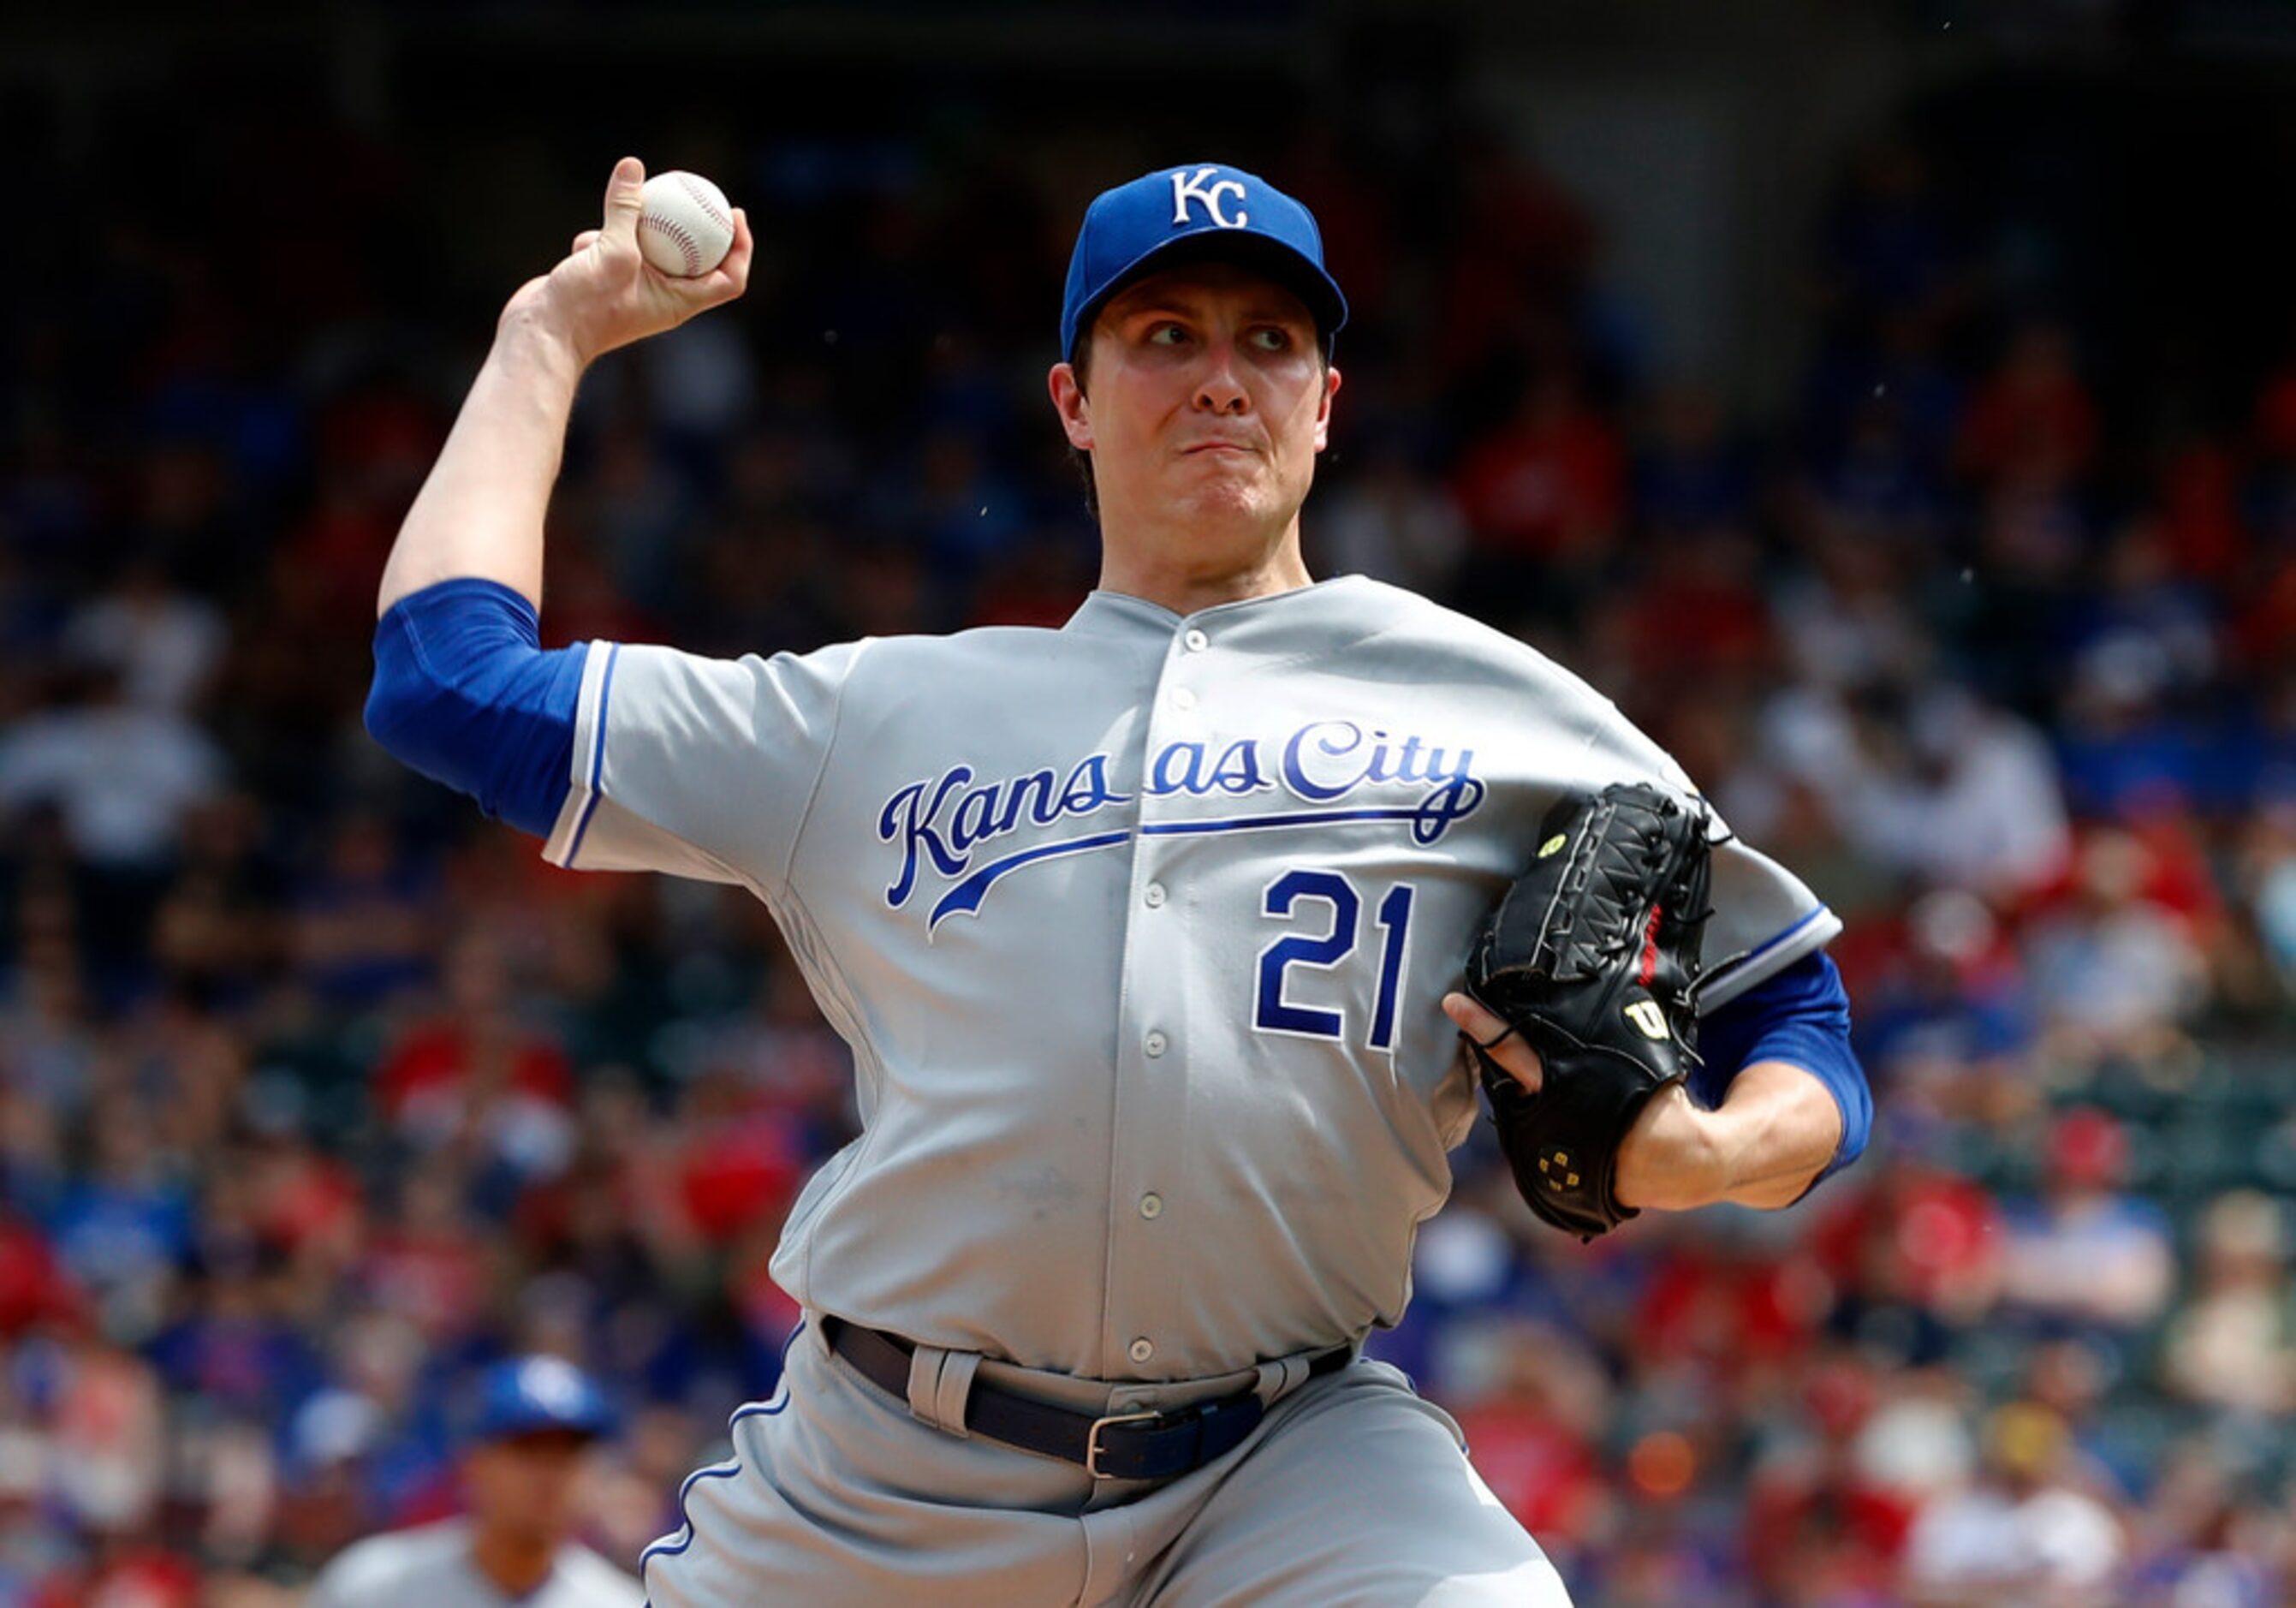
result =
M1322 266L1316 214L1242 168L1187 163L1102 191L1086 207L1061 296L1061 356L1077 358L1077 340L1118 289L1203 257L1242 262L1290 287L1316 315L1325 349L1348 322L1348 299Z

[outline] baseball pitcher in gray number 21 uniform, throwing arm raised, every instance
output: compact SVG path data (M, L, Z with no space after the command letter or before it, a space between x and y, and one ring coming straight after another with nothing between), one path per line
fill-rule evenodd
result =
M650 269L641 184L505 308L367 724L556 864L751 889L854 1050L863 1132L774 1261L785 1383L650 1601L1564 1603L1362 1339L1479 1080L1577 1234L1851 1162L1839 923L1561 666L1309 577L1348 306L1309 211L1219 163L1077 232L1049 397L1102 570L1068 625L542 652L583 368L748 273L739 216L714 273Z

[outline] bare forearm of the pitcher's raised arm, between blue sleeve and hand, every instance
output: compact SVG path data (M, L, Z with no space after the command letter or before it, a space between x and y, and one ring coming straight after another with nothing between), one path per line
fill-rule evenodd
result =
M542 519L583 363L530 299L503 315L455 430L383 565L374 611L439 581L501 581L542 606Z

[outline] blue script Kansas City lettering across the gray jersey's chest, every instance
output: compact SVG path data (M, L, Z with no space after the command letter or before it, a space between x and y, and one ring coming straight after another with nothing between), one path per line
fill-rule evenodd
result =
M946 917L978 912L990 887L1022 866L1125 843L1132 827L1033 843L980 864L974 857L983 843L1024 827L1052 827L1063 818L1081 820L1114 804L1130 804L1134 795L1109 779L1111 763L1107 753L1091 753L1065 776L1047 765L1001 781L976 781L971 765L951 765L937 779L900 788L877 818L877 836L900 845L900 875L886 887L884 903L893 910L907 905L923 868L953 878L955 884L934 903L928 923L939 926ZM1453 822L1472 815L1488 793L1474 774L1474 749L1453 751L1417 733L1394 737L1355 721L1309 721L1281 742L1166 742L1148 760L1141 783L1148 797L1247 797L1277 788L1316 809L1153 820L1139 832L1180 836L1396 820L1410 825L1414 843L1435 843ZM1389 788L1414 788L1417 795L1394 804L1373 802Z

